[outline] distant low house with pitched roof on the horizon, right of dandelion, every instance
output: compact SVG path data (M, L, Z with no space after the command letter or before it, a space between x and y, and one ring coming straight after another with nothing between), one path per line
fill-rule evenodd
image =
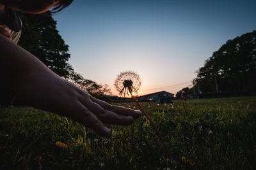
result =
M174 94L161 91L161 92L155 92L152 94L146 94L144 96L138 97L139 101L156 101L156 103L171 103L172 98Z

